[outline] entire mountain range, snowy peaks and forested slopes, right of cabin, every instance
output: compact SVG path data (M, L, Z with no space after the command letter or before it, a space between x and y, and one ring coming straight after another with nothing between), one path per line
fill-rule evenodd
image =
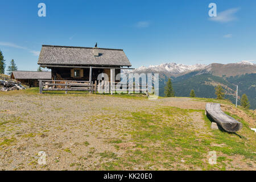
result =
M221 85L225 90L225 98L236 103L238 85L238 104L245 93L250 101L250 109L256 109L256 64L250 61L209 65L164 63L139 67L129 72L159 73L160 96L164 96L164 86L171 78L175 96L189 97L191 89L194 89L196 97L216 98L214 88Z

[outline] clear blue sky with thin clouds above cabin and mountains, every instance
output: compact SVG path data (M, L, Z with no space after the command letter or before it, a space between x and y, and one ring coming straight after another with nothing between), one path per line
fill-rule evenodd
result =
M38 4L46 4L46 17ZM209 3L217 18L210 18ZM0 1L6 64L36 70L42 44L122 48L134 68L256 60L256 1ZM255 61L254 61L255 63Z

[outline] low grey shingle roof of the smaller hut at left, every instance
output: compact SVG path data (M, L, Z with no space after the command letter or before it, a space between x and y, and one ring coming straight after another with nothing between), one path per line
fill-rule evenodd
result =
M13 71L15 79L51 79L51 72Z

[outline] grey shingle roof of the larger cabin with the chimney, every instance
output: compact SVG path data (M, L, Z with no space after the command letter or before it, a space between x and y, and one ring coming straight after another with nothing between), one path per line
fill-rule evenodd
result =
M131 67L122 49L98 48L99 56L93 55L92 47L68 47L43 45L40 65L112 65Z

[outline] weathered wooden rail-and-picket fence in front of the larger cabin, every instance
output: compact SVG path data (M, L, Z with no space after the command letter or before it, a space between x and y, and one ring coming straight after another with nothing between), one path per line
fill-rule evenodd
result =
M39 80L39 92L62 90L89 91L89 93L144 93L148 96L148 85L136 82L110 81L69 81L69 80Z

